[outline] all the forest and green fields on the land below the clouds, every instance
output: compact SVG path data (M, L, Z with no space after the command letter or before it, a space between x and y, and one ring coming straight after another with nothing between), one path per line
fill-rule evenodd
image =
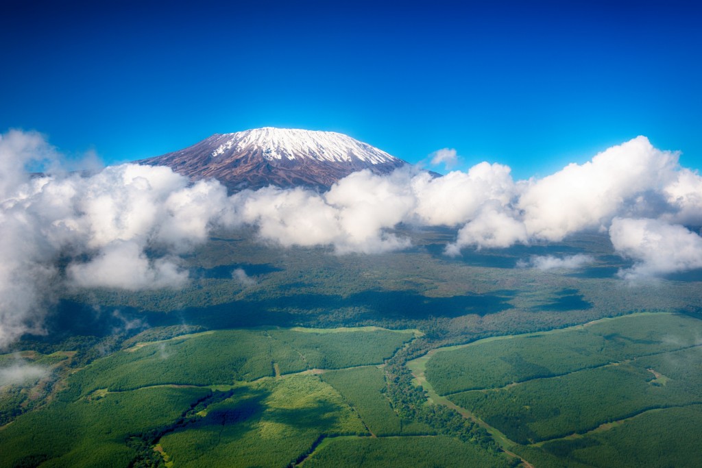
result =
M694 276L628 286L599 235L448 258L449 229L398 234L417 247L219 233L183 290L66 293L50 335L0 356L46 370L0 383L0 467L702 464ZM595 263L515 268L575 253ZM420 356L461 407L428 401Z

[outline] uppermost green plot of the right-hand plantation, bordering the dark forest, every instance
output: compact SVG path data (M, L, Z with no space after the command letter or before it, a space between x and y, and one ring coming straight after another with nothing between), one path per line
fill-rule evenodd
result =
M695 345L700 332L699 321L687 316L639 314L437 352L426 377L441 395L498 388L682 349Z

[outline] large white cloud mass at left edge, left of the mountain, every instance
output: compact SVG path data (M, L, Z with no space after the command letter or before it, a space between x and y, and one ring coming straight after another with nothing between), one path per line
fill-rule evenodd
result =
M67 283L183 286L177 255L205 241L214 223L232 222L216 181L191 185L170 168L135 164L86 177L46 171L60 159L38 133L0 137L0 347L44 333L46 310ZM30 177L40 166L45 173Z

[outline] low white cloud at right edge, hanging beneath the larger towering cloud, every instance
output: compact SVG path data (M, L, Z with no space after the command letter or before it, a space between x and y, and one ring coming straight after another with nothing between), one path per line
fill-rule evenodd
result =
M617 253L635 261L619 272L636 280L702 268L702 237L663 220L615 218L609 236Z

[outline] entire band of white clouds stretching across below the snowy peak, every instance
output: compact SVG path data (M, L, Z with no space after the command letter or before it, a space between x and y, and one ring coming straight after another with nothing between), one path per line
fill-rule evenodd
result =
M436 156L451 161L452 154ZM479 163L443 177L404 168L353 173L319 194L266 187L227 196L215 180L190 183L170 168L124 164L93 175L49 173L60 155L37 133L0 138L0 347L41 333L59 288L179 288L183 255L213 227L253 226L279 246L330 246L338 254L380 253L410 245L394 232L449 226L464 248L560 241L584 230L609 232L635 265L624 278L702 267L702 178L675 152L644 137L570 164L541 179L512 179L510 168ZM576 268L589 258L533 258L539 269ZM250 280L234 272L242 284Z

